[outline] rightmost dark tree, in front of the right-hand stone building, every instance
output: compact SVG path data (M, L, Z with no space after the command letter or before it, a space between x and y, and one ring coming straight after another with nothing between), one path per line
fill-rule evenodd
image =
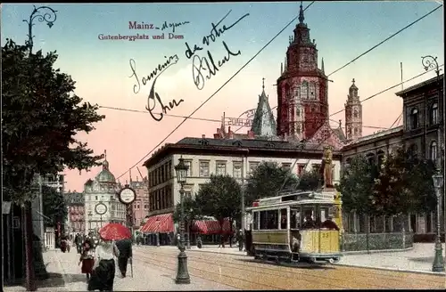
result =
M402 215L435 209L436 197L431 161L413 150L399 148L384 158L376 179L373 202L383 215Z

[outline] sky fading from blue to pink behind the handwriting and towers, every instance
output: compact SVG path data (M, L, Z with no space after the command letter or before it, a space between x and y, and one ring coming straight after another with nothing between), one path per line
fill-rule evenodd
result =
M324 58L326 74L333 80L328 89L330 113L343 110L352 78L356 80L362 100L399 84L401 62L403 80L424 72L421 56L437 56L437 61L442 65L443 7L335 72L441 3L316 1L311 4L305 11L304 22L310 28L310 38L316 40L319 67L321 58ZM87 142L95 154L107 150L111 172L117 178L120 177L121 183L125 183L129 179L130 167L136 165L183 121L183 118L168 116L156 121L145 110L153 80L156 80L155 91L164 105L169 105L172 100L183 100L169 110L172 115L188 116L215 93L193 116L207 120L188 119L166 142L178 142L185 136L201 137L202 134L212 137L223 113L226 117L237 118L245 110L256 108L263 77L269 103L271 107L277 106L275 84L280 75L281 62L285 59L288 38L293 35L298 20L294 20L287 28L285 26L298 16L299 4L46 4L57 11L57 18L52 28L48 28L45 22L35 20L34 50L42 50L44 53L57 51L59 59L55 66L76 81L75 93L84 101L102 107L136 110L101 108L99 113L106 118L95 124L95 131L77 135L78 140ZM303 2L303 7L309 4ZM45 4L35 5L38 7ZM28 27L22 20L29 18L32 10L32 4L2 5L2 41L12 38L16 43L24 44ZM209 45L202 45L202 38L211 33L211 24L218 23L225 15L227 17L218 26L226 26L224 33L215 41L210 38ZM149 28L129 28L129 23L134 21L144 22ZM161 29L163 23L167 23L168 28ZM171 23L177 24L175 33L169 27ZM277 36L280 31L282 33ZM182 38L169 39L172 33ZM134 37L136 34L148 36L148 39L141 37L130 41L127 37L121 40L100 40L103 38L100 35ZM162 34L164 39L153 38ZM197 57L186 56L186 43L191 50L194 45L202 47L202 50L194 53ZM228 54L227 50L233 55L221 64L215 76L199 84L202 88L198 89L194 82L197 74L196 70L193 71L193 63L199 66L198 61L207 57L208 51L217 64L219 61L221 63ZM133 60L137 79L132 76L130 60ZM156 79L150 78L151 72L168 60L169 67L161 74L158 73ZM330 75L332 72L335 73ZM150 79L144 82L145 85L144 77ZM404 84L404 88L431 77L434 77L434 72L409 81ZM139 87L136 80L139 80ZM376 127L388 128L398 119L402 101L395 93L400 90L401 86L397 86L363 103L364 135L373 134L377 131ZM153 107L153 101L149 106ZM156 105L153 112L161 112L160 104ZM333 115L331 119L341 119L344 125L344 112ZM333 122L332 126L335 125ZM239 133L246 133L247 130L243 128ZM147 171L142 166L144 161L136 166L145 176ZM93 178L100 169L94 167L80 173L78 170L66 170L66 190L82 191L87 179ZM136 176L141 178L138 169L135 167L131 170L133 179Z

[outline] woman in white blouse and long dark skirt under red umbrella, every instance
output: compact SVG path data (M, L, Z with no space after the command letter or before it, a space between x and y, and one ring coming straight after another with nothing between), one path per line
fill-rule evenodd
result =
M88 281L88 291L112 291L116 271L113 256L118 257L120 251L111 240L101 238L95 248L95 265Z

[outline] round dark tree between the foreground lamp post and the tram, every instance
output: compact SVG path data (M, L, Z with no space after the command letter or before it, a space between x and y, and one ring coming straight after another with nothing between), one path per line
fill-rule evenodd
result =
M225 218L232 223L241 214L242 188L234 177L229 175L211 175L211 180L202 185L195 196L202 215L215 217L221 231Z

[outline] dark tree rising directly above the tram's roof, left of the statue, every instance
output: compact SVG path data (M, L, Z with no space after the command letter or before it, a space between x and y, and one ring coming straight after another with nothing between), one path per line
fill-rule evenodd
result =
M256 199L277 196L278 191L295 189L297 183L297 177L277 162L262 162L252 171L245 186L245 206L251 206Z

